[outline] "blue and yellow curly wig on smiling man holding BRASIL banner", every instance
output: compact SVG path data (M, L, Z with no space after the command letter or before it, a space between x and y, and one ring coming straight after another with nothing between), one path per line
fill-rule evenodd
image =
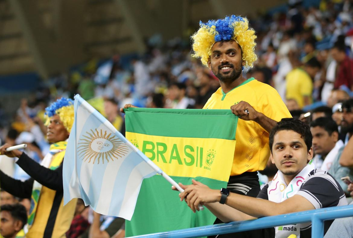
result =
M232 15L224 19L200 21L200 29L191 36L192 49L195 58L201 58L203 65L207 66L211 48L217 41L236 41L243 52L245 67L251 68L257 60L255 54L255 31L249 28L249 21L245 17Z

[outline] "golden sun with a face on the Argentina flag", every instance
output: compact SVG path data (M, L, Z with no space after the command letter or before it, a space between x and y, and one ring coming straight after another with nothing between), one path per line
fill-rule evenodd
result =
M127 146L115 135L109 133L107 135L107 131L104 133L102 130L98 132L95 129L95 132L91 129L91 132L86 132L87 135L83 135L83 139L80 139L78 143L78 156L82 156L82 160L91 162L93 159L93 164L97 160L97 164L99 164L100 159L102 159L102 163L104 164L104 159L109 162L109 160L114 161L115 159L122 158L122 156L126 155L128 152Z

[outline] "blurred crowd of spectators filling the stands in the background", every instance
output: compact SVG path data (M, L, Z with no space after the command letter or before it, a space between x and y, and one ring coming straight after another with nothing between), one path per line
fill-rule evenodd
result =
M308 124L319 117L332 118L339 139L347 146L353 133L353 1L289 0L248 18L257 35L258 61L255 67L244 70L246 78L254 77L274 87L292 116ZM193 23L186 35L190 36L197 24ZM203 108L219 87L219 81L209 68L191 57L189 38L163 41L160 34L155 34L144 43L142 54L114 53L108 59L91 59L55 76L39 79L31 85L35 88L25 98L17 96L17 100L10 102L0 95L1 144L26 143L26 153L40 162L49 150L43 125L44 109L57 98L73 98L77 93L123 134L124 116L119 108L127 103L150 108ZM6 80L10 84L16 78L7 77ZM1 82L5 82L1 87L6 88L6 81ZM317 127L317 124L311 125ZM327 155L321 153L323 158ZM343 175L353 178L350 166L343 166L346 168ZM0 167L16 179L29 178L12 159L2 156ZM340 169L339 176L341 172ZM269 165L262 172L268 176L262 177L263 182L275 173L274 167ZM344 189L350 197L350 188ZM29 209L29 201L18 200L1 191L1 205L14 202ZM82 202L77 205L76 215L84 224L81 233L98 216L89 213ZM114 219L104 218L108 221L100 229L108 229ZM109 237L119 231L122 222L116 220L117 225L113 231L109 230ZM81 233L67 235L78 237Z

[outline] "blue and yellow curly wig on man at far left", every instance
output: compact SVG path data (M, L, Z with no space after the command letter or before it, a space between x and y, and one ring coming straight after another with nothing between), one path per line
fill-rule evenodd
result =
M60 98L50 104L45 109L45 116L47 117L46 126L49 125L50 118L54 115L59 115L66 130L71 132L74 120L73 100L70 98Z

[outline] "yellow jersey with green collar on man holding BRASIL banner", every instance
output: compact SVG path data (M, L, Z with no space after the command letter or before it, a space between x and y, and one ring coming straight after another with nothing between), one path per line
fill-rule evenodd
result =
M230 109L240 101L249 103L256 111L262 112L275 121L292 117L277 91L254 78L247 79L227 93L224 93L220 87L208 99L204 109ZM246 171L263 170L270 156L269 133L258 123L240 118L235 139L237 144L231 176L240 175Z

